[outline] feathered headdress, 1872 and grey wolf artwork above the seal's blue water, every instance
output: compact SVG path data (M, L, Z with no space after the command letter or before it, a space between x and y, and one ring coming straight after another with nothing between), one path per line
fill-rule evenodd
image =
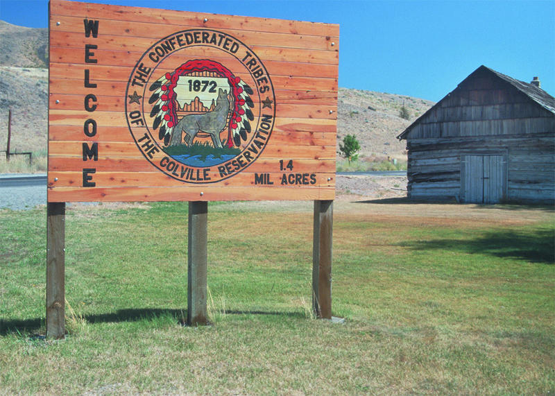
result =
M206 74L213 77L203 79ZM164 146L190 146L196 137L209 136L214 148L232 148L248 139L250 121L255 119L250 110L254 107L250 98L253 89L219 62L189 60L156 80L150 91L152 127L158 130ZM205 105L205 101L209 103ZM196 105L192 106L193 102ZM189 109L186 112L189 114L179 117L178 112L183 113L180 110L184 107ZM220 134L226 127L227 137L222 141Z

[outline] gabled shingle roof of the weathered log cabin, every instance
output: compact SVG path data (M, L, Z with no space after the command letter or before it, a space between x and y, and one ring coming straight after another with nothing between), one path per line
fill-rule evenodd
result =
M530 83L524 83L524 81L516 80L515 78L512 78L510 76L506 76L505 74L499 73L499 71L495 71L493 69L490 69L489 67L481 65L478 69L476 69L475 71L472 71L472 73L467 78L465 78L463 81L461 81L461 83L459 83L459 85L457 85L456 88L453 89L452 92L450 92L449 94L444 96L441 99L441 101L438 101L438 103L436 103L431 108L429 108L427 112L422 114L420 117L418 117L418 119L416 119L413 123L411 123L411 125L409 125L407 127L407 129L405 129L397 137L397 139L400 139L400 140L406 139L409 132L411 132L411 130L415 126L417 126L418 123L420 123L420 121L425 119L430 112L434 111L434 109L436 107L440 106L441 103L443 101L445 101L446 98L448 98L453 92L456 91L456 89L458 89L461 85L466 83L471 78L474 78L476 74L483 73L484 71L490 73L495 78L500 78L500 79L504 80L506 83L509 83L515 89L518 89L518 91L522 92L522 94L528 96L531 99L531 101L537 103L538 105L543 107L548 112L551 112L552 114L555 114L555 98L553 96L549 95L547 92L545 92L540 87L536 87L536 85L533 85L533 84L530 84Z

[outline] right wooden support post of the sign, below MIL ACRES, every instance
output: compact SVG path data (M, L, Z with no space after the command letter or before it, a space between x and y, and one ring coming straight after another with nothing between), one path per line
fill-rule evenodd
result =
M333 200L314 201L312 245L312 309L318 318L332 318Z

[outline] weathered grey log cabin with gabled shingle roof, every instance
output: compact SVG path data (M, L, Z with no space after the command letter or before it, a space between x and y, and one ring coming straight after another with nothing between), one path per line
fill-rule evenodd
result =
M409 198L555 202L555 98L480 66L416 119L407 140Z

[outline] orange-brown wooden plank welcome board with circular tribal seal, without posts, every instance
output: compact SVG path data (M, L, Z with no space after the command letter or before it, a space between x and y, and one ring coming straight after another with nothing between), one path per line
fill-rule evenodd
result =
M48 201L333 200L339 25L50 2Z

